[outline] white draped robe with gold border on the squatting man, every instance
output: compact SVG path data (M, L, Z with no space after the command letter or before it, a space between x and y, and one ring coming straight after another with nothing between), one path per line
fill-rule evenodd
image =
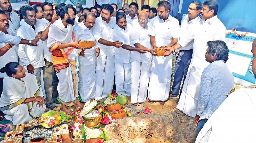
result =
M39 108L39 105L36 107L37 102L34 104L32 102L22 104L26 98L37 95L43 97L43 92L38 86L34 75L26 73L26 76L21 80L24 82L13 77L5 77L3 80L3 93L0 98L1 110L4 114L7 114L7 119L12 120L14 125L28 123L32 117L41 116L46 108L45 106ZM3 110L5 109L3 107L7 109ZM31 111L29 112L28 109Z

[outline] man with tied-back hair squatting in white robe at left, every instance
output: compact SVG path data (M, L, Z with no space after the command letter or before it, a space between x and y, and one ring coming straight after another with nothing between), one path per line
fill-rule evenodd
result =
M13 125L28 123L45 111L44 95L35 75L26 73L19 63L10 62L0 72L4 78L0 110Z

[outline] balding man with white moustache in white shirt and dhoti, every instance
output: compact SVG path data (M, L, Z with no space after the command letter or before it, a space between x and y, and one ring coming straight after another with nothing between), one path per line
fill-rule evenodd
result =
M147 51L146 53L131 51L131 104L136 106L146 101L152 55L156 56L155 50L150 45L147 23L148 13L141 11L138 26L133 27L133 31L130 33L130 39L135 48L142 48Z

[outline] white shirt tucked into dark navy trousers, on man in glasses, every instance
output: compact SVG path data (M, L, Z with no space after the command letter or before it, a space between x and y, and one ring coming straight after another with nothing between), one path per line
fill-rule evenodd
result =
M193 49L193 42L194 42L194 36L197 30L197 27L200 25L200 17L196 17L190 21L188 15L185 15L182 20L181 20L181 25L180 25L180 40L178 43L180 45L185 45L184 47L179 48L178 50L190 50ZM186 40L186 36L190 36L190 39L193 39L191 41L183 41ZM184 44L185 43L185 44Z

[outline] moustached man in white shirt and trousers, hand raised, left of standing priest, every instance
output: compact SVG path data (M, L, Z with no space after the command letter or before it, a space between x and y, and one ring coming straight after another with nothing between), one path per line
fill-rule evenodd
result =
M38 19L36 21L35 28L36 33L41 36L41 40L43 41L44 62L46 65L43 67L44 90L47 98L45 105L47 108L52 110L57 107L53 103L60 102L57 101L58 78L56 76L56 71L53 66L52 53L49 52L49 49L47 47L47 39L50 25L58 19L58 16L57 14L54 14L53 6L51 3L44 2L42 4L42 10L44 13L44 18Z

